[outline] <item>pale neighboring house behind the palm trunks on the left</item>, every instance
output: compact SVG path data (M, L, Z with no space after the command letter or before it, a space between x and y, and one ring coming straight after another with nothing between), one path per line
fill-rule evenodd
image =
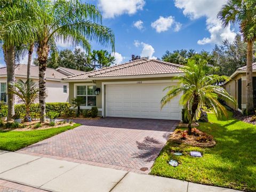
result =
M46 102L68 102L69 99L69 85L61 82L62 78L69 75L77 75L84 73L84 71L68 69L59 67L57 69L46 68ZM30 77L38 84L39 70L37 66L30 67ZM27 65L19 64L15 66L16 79L22 79L23 82L27 80ZM0 68L0 99L6 101L6 81L7 72L6 67ZM15 99L18 103L18 99Z

